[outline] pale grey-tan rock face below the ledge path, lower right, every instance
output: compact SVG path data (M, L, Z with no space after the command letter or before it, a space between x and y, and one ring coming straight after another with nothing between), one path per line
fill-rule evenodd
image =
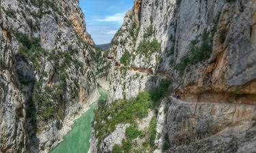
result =
M170 99L169 152L255 152L255 106Z

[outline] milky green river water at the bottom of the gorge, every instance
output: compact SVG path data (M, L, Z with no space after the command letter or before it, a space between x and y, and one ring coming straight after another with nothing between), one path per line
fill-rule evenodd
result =
M64 137L63 141L54 148L51 153L87 153L90 148L91 121L94 117L94 109L98 102L106 101L109 98L108 92L98 88L101 97L91 104L90 109L72 125L72 130Z

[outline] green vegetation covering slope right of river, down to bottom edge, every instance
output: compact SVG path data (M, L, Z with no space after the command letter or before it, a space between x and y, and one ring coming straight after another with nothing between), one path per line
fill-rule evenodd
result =
M94 130L98 139L98 147L103 139L115 131L117 124L128 123L130 127L126 129L126 139L122 146L115 146L113 152L130 152L132 146L136 146L133 140L137 137L145 137L145 148L154 148L156 138L156 117L152 118L149 129L139 131L137 120L147 117L150 110L157 109L160 100L165 97L170 82L162 80L160 85L154 90L139 92L139 95L130 100L119 99L111 104L100 103L95 112ZM155 114L156 115L156 114Z

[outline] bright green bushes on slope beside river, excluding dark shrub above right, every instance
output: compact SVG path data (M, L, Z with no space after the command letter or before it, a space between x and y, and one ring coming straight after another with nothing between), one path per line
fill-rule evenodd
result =
M153 101L149 92L140 92L137 98L128 100L113 101L109 107L105 103L99 103L95 112L94 129L98 131L96 137L101 143L102 139L115 130L119 123L133 123L137 118L147 116L150 108L153 107ZM108 117L111 116L111 120ZM105 122L102 122L102 121Z

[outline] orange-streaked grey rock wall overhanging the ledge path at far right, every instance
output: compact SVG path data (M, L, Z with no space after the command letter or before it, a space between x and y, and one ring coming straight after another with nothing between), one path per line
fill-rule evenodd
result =
M226 97L225 101L253 104L255 2L218 3L221 6L218 9L220 17L209 63L187 67L184 84L180 89L182 94L187 95L184 99L190 99L190 95L198 95L200 98L212 94L217 95L216 97ZM218 96L224 94L225 96ZM217 101L223 99L216 99L215 102Z

